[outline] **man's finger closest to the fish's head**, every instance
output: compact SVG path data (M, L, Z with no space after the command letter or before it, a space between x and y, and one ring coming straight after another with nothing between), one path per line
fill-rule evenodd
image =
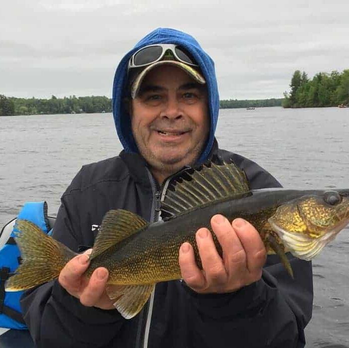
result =
M250 273L261 273L266 250L258 231L243 219L235 219L232 226L245 249L247 269Z

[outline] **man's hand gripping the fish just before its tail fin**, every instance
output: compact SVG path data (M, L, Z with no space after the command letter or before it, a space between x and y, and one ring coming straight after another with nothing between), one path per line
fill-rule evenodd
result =
M60 285L72 296L80 299L81 304L87 307L101 309L115 309L112 301L106 294L108 270L98 267L88 279L84 273L89 266L88 254L92 249L72 258L61 270L58 281Z

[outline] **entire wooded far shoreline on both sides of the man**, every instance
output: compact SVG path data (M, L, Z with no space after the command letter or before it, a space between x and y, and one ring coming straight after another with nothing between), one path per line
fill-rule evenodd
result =
M309 79L306 72L296 70L290 83L290 92L282 99L221 100L220 109L263 108L316 108L349 106L349 69L339 73L318 73ZM112 101L105 96L64 97L50 99L14 98L0 95L0 116L110 113Z

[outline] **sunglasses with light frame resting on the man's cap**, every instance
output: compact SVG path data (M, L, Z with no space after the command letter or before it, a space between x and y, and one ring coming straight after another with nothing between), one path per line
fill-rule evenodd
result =
M141 48L129 60L128 70L156 63L162 59L174 58L187 65L198 67L198 64L185 49L174 44L156 44Z

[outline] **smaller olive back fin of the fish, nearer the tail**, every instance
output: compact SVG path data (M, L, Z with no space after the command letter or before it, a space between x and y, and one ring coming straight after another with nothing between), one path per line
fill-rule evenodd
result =
M148 224L146 220L127 210L110 210L102 220L90 260Z

